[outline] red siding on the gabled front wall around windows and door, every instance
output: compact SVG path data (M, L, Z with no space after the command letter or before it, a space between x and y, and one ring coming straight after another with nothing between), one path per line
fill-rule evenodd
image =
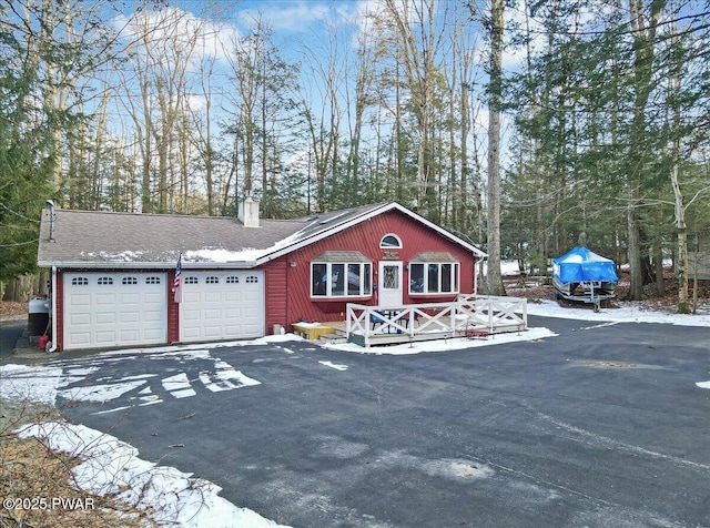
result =
M460 262L462 293L474 291L475 262L466 248L445 238L426 225L398 211L389 211L372 220L361 222L348 230L315 242L307 247L285 255L267 265L266 270L266 333L273 324L290 325L301 319L308 322L343 321L347 302L376 305L377 294L364 299L313 301L311 298L311 261L324 251L359 251L373 261L373 282L377 284L377 267L385 257L379 241L388 233L402 240L403 247L394 250L405 265L420 252L448 252ZM292 265L295 263L295 266ZM274 282L274 284L272 284ZM408 284L408 271L404 270L403 284ZM404 303L446 302L455 295L410 297L404 288Z

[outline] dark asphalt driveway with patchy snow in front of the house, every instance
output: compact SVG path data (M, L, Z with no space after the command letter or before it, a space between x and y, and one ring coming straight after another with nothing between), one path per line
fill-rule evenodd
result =
M63 354L58 407L296 527L710 526L710 329L529 319L559 335Z

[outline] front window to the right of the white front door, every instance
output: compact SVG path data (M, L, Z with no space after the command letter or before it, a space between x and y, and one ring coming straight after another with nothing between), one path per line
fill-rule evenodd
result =
M460 264L449 253L420 253L409 263L409 293L458 293Z

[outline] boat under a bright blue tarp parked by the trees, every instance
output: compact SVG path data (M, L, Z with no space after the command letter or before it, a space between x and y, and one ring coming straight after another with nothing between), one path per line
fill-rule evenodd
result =
M557 298L594 303L599 309L601 301L616 297L616 264L587 247L578 246L552 258L552 284Z

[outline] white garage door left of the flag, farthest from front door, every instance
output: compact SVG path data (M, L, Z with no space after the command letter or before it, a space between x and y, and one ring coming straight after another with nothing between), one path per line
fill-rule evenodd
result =
M164 273L64 274L64 349L168 342Z

